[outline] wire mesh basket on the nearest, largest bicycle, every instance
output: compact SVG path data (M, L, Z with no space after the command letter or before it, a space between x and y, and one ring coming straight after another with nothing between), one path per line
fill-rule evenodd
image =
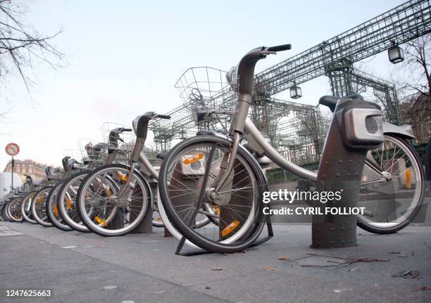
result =
M237 100L238 76L212 67L191 67L178 79L175 88L196 124L227 119Z

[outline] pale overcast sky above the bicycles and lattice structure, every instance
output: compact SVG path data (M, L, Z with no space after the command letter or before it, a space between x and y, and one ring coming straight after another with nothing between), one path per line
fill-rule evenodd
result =
M12 106L0 123L6 134L0 135L0 171L9 160L3 151L8 142L20 146L18 159L60 165L62 149L77 149L78 138L101 138L103 122L130 124L143 112L180 105L173 86L188 67L228 70L256 46L292 44L292 51L259 61L261 71L403 2L31 2L23 21L42 34L62 30L53 43L68 63L56 71L35 66L32 101L20 80L11 80L8 101L0 100L0 110ZM393 77L386 53L356 66ZM316 105L330 93L325 77L301 87L300 103Z

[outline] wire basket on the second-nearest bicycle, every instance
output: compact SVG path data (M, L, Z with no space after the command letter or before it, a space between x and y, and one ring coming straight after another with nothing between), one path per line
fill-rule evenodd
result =
M104 142L117 150L116 160L129 162L136 136L134 131L123 131L123 129L132 129L132 127L115 122L105 122L100 127Z

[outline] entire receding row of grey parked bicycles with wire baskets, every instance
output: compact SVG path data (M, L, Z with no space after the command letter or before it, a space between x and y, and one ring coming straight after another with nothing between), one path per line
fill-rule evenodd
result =
M196 123L206 129L159 154L160 170L146 157L144 143L149 123L170 117L146 112L130 128L104 127L104 143L87 144L80 162L63 158L64 172L47 169L42 186L25 185L25 191L0 206L0 219L123 236L152 213L153 226L165 226L180 240L177 252L184 244L239 252L268 240L272 233L270 216L263 212L262 197L268 191L264 169L275 162L306 180L300 182L301 191L313 191L317 180L316 172L277 153L247 117L257 61L289 48L254 49L227 73L209 67L187 70L176 87ZM382 126L375 109L366 115L370 103L359 95L326 96L320 104L334 112L348 100L365 104L358 117L364 120L361 134L379 130L385 139L367 152L358 190L358 206L366 212L358 215L358 226L373 233L399 231L416 216L425 193L423 165L407 141L414 138L413 131ZM269 236L262 238L264 226Z

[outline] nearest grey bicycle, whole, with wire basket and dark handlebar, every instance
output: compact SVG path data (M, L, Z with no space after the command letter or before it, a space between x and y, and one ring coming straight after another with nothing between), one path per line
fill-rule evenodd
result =
M256 63L290 48L289 44L258 47L246 53L225 77L221 72L211 77L213 69L196 67L177 82L196 122L223 125L227 117L232 121L225 134L201 131L178 143L161 165L159 209L165 215L163 221L168 219L182 236L182 243L187 239L204 250L220 253L239 252L256 243L269 222L262 211L268 183L261 164L266 160L311 183L317 180L316 172L282 157L247 117ZM333 111L337 102L347 99L366 102L359 95L342 99L325 96L319 102ZM228 110L230 106L232 110ZM358 202L366 212L358 216L358 225L374 233L393 233L407 226L418 212L425 183L418 155L406 141L414 138L411 127L379 122L380 115L380 110L373 110L373 115L364 115L353 125L354 131L365 136L372 136L368 129L375 127L385 134L385 142L366 157ZM384 207L381 212L387 199L396 206L390 210ZM194 228L198 214L210 218L211 224Z

